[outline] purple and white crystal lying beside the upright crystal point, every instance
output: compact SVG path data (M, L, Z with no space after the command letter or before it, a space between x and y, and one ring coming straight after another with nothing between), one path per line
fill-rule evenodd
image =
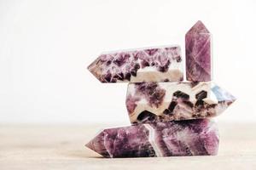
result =
M183 62L178 46L101 54L88 70L101 82L183 81Z

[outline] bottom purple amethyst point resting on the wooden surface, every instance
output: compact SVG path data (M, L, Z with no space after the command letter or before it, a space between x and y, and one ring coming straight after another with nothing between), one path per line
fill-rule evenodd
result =
M86 146L104 157L211 156L218 129L208 119L137 124L105 129Z

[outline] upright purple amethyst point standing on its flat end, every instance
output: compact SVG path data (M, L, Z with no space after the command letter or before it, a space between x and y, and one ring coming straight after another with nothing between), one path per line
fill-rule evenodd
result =
M212 80L211 33L199 20L186 34L186 75L192 82Z

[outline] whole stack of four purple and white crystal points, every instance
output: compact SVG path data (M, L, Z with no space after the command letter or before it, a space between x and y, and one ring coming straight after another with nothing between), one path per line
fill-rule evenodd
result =
M236 99L212 81L211 34L198 21L185 36L186 82L178 46L100 55L89 71L101 82L129 82L131 126L104 129L86 146L104 157L218 153L218 116Z

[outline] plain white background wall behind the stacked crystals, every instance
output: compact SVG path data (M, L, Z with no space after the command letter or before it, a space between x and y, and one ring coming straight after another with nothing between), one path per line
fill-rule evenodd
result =
M213 35L214 82L237 98L218 120L256 122L255 8L254 0L0 1L0 123L128 124L127 84L102 84L87 65L102 51L184 50L197 20Z

